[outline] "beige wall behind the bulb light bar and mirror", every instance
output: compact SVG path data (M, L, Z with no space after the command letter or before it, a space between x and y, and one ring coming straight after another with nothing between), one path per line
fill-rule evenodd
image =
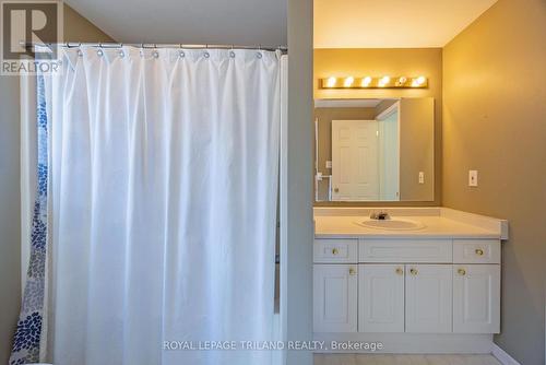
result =
M382 205L438 205L441 202L441 126L442 126L442 49L314 49L314 98L381 98L434 97L435 98L435 199L428 202L382 202ZM428 89L404 90L320 90L318 79L363 75L426 75ZM375 203L334 202L332 204L373 205ZM377 203L376 203L377 204Z

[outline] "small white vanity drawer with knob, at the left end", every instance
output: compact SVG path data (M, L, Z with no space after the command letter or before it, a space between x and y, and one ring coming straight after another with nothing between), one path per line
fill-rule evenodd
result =
M356 263L357 239L314 239L313 261L317 263Z

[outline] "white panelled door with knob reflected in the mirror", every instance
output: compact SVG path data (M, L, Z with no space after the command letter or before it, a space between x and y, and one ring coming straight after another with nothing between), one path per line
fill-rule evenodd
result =
M379 200L376 120L332 120L332 200Z

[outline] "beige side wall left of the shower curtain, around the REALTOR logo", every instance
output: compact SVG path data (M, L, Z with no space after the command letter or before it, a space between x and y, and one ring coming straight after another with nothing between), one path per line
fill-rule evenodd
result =
M111 42L64 7L64 40ZM0 364L7 364L21 303L19 78L0 76Z

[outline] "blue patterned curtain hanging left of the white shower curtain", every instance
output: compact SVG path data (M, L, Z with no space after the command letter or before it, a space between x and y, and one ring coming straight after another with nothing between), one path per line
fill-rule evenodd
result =
M31 233L31 260L25 292L13 339L10 365L39 362L44 329L44 289L47 250L48 137L44 76L37 76L37 191Z

